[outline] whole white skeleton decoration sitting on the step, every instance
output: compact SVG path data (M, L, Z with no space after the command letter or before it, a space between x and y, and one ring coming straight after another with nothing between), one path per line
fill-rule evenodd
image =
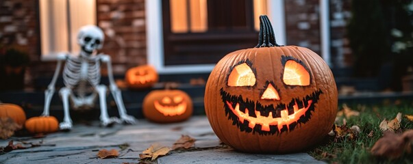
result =
M72 102L73 109L90 109L95 105L97 96L99 96L100 120L103 126L108 126L115 122L136 123L134 117L127 115L121 91L114 83L110 56L104 54L95 55L96 51L102 48L103 40L104 35L99 27L95 25L84 26L77 34L77 43L81 46L79 56L75 57L67 54L58 56L58 65L56 66L53 79L45 91L45 109L42 115L49 115L50 101L55 92L55 82L62 62L65 61L66 64L62 74L64 87L59 91L64 109L64 119L60 123L60 129L62 130L70 130L72 128L72 120L69 115L69 99ZM101 63L105 63L108 67L109 89L118 107L120 119L116 117L109 118L106 105L106 92L108 89L105 85L100 84Z

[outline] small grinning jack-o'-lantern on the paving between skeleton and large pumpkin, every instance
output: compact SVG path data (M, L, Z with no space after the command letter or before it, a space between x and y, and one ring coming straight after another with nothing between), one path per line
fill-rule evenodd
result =
M181 90L153 90L142 108L145 118L153 122L180 122L192 115L192 100Z

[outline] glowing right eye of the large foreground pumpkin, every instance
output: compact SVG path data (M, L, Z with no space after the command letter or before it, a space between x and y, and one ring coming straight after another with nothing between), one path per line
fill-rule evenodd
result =
M288 60L284 66L283 79L286 85L310 85L310 73L294 60Z

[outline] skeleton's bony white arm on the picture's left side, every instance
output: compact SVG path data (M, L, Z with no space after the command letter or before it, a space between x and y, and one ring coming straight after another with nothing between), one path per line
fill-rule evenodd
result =
M57 57L58 65L56 66L55 73L53 74L53 79L51 79L50 84L47 86L47 90L45 90L45 108L43 109L42 115L45 115L45 116L49 115L50 101L55 92L55 83L59 77L59 72L60 72L60 68L62 67L62 62L66 60L67 57L68 55L64 53L60 53Z

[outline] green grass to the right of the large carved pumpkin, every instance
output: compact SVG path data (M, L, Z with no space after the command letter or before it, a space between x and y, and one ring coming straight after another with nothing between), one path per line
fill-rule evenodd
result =
M348 105L352 110L360 111L360 116L353 116L347 119L347 127L357 125L360 127L360 134L355 139L326 139L325 143L313 148L308 153L315 159L327 163L413 163L413 155L404 155L399 159L389 160L373 156L370 149L374 143L382 136L379 124L384 118L392 120L398 112L403 113L401 130L413 129L413 122L404 117L404 114L413 115L413 102L400 100L396 102L383 102L380 105ZM339 106L339 110L342 106ZM342 125L342 119L336 122ZM368 134L373 131L373 136Z

